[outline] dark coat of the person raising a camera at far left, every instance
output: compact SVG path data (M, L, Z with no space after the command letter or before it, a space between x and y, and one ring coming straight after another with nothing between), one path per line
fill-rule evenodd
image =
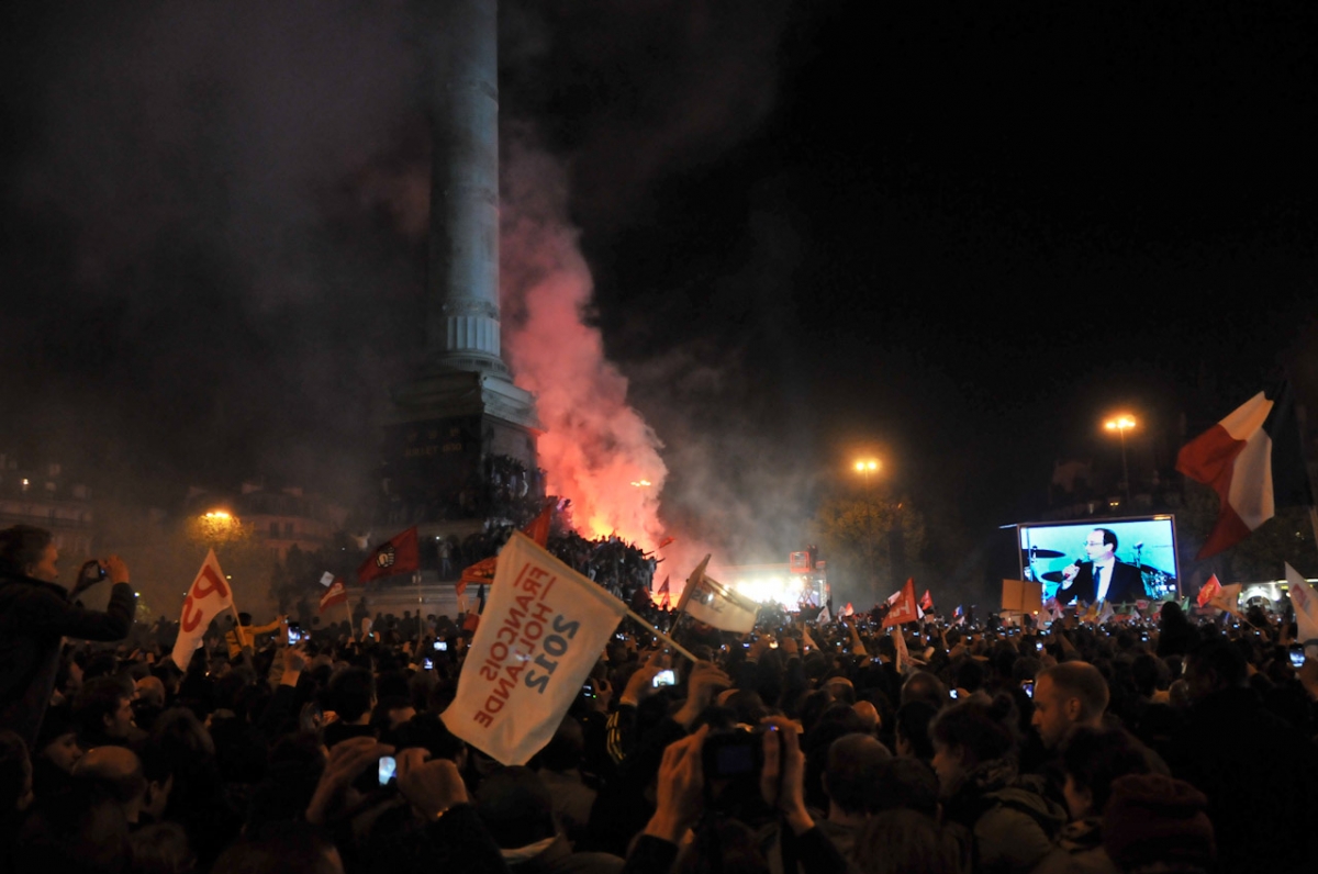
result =
M54 583L0 577L0 728L17 732L30 747L55 688L62 639L121 641L136 612L128 583L115 585L100 613L71 604Z

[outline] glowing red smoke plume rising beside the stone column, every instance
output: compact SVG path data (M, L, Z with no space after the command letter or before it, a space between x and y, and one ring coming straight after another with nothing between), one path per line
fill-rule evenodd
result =
M616 533L652 550L664 537L659 493L668 471L659 438L627 406L626 377L585 323L593 283L567 219L563 169L513 146L502 195L503 353L517 384L536 395L546 489L572 500L583 535Z

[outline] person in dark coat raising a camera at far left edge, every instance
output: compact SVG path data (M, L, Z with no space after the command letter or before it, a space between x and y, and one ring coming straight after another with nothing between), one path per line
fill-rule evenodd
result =
M17 732L29 746L50 704L62 638L120 641L137 610L117 555L84 564L75 589L108 579L115 588L104 613L71 602L58 579L50 531L29 525L0 531L0 729Z

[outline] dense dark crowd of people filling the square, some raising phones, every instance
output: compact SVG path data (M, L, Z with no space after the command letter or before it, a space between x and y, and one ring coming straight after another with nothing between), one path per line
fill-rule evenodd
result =
M440 718L463 617L217 625L181 670L123 560L58 577L47 533L0 531L0 871L1318 870L1318 659L1260 610L681 620L695 662L627 621L502 766Z

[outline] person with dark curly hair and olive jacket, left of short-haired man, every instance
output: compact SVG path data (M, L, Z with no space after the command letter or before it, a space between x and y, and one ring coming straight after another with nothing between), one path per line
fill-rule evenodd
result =
M1016 708L1010 695L975 696L929 726L948 821L970 830L975 871L1029 871L1066 821L1040 778L1016 771Z

